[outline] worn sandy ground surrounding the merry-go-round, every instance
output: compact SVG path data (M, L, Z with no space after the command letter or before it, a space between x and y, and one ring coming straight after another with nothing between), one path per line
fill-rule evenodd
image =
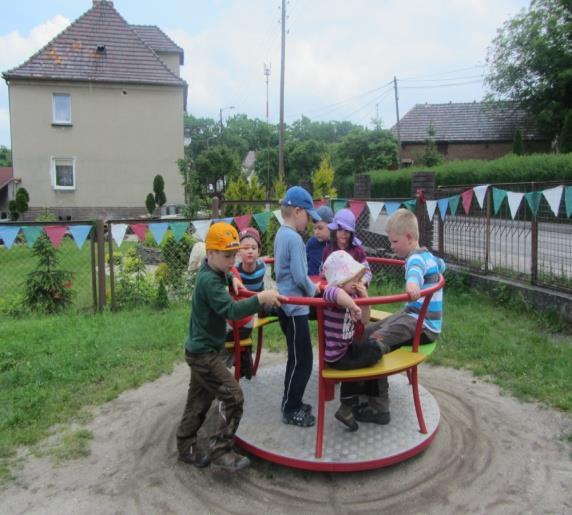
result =
M266 354L265 363L280 355ZM94 410L91 455L54 467L27 457L2 514L572 513L572 420L501 395L470 373L424 365L439 402L429 448L393 467L326 474L258 459L237 474L176 459L188 368Z

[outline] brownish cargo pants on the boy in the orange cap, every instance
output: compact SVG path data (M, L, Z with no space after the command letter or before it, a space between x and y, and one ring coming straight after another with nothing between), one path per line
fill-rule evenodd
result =
M209 454L211 459L216 459L229 451L233 444L242 417L242 390L219 353L186 352L185 359L191 367L191 380L187 404L177 430L177 449L180 454L185 454L196 444L197 433L216 399L216 429L209 435Z

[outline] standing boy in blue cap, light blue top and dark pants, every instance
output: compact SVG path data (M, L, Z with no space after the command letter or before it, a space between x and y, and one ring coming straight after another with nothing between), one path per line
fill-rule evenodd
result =
M308 217L321 220L314 209L310 194L300 186L293 186L281 201L284 224L274 239L274 267L276 287L282 295L313 297L319 293L308 277L308 264L304 240L299 233L308 225ZM284 377L282 421L300 427L310 427L316 422L312 407L302 398L312 373L312 342L308 324L308 306L285 304L278 311L280 327L286 336L288 361Z

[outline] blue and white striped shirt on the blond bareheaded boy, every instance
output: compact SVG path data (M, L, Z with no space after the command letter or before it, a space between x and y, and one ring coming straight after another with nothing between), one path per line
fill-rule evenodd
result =
M439 274L444 271L445 262L431 254L427 249L421 248L413 252L405 262L405 281L416 283L421 289L429 288L439 282ZM419 318L424 300L424 297L420 297L416 301L408 302L405 306L405 312L415 319ZM442 320L443 289L441 288L431 297L423 327L438 334L441 332Z

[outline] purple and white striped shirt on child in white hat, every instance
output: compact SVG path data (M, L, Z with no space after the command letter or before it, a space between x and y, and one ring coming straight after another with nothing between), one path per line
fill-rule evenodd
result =
M339 290L338 286L328 286L324 290L324 300L335 304ZM337 305L324 308L324 357L328 363L338 361L345 355L354 340L355 331L356 324L349 309Z

